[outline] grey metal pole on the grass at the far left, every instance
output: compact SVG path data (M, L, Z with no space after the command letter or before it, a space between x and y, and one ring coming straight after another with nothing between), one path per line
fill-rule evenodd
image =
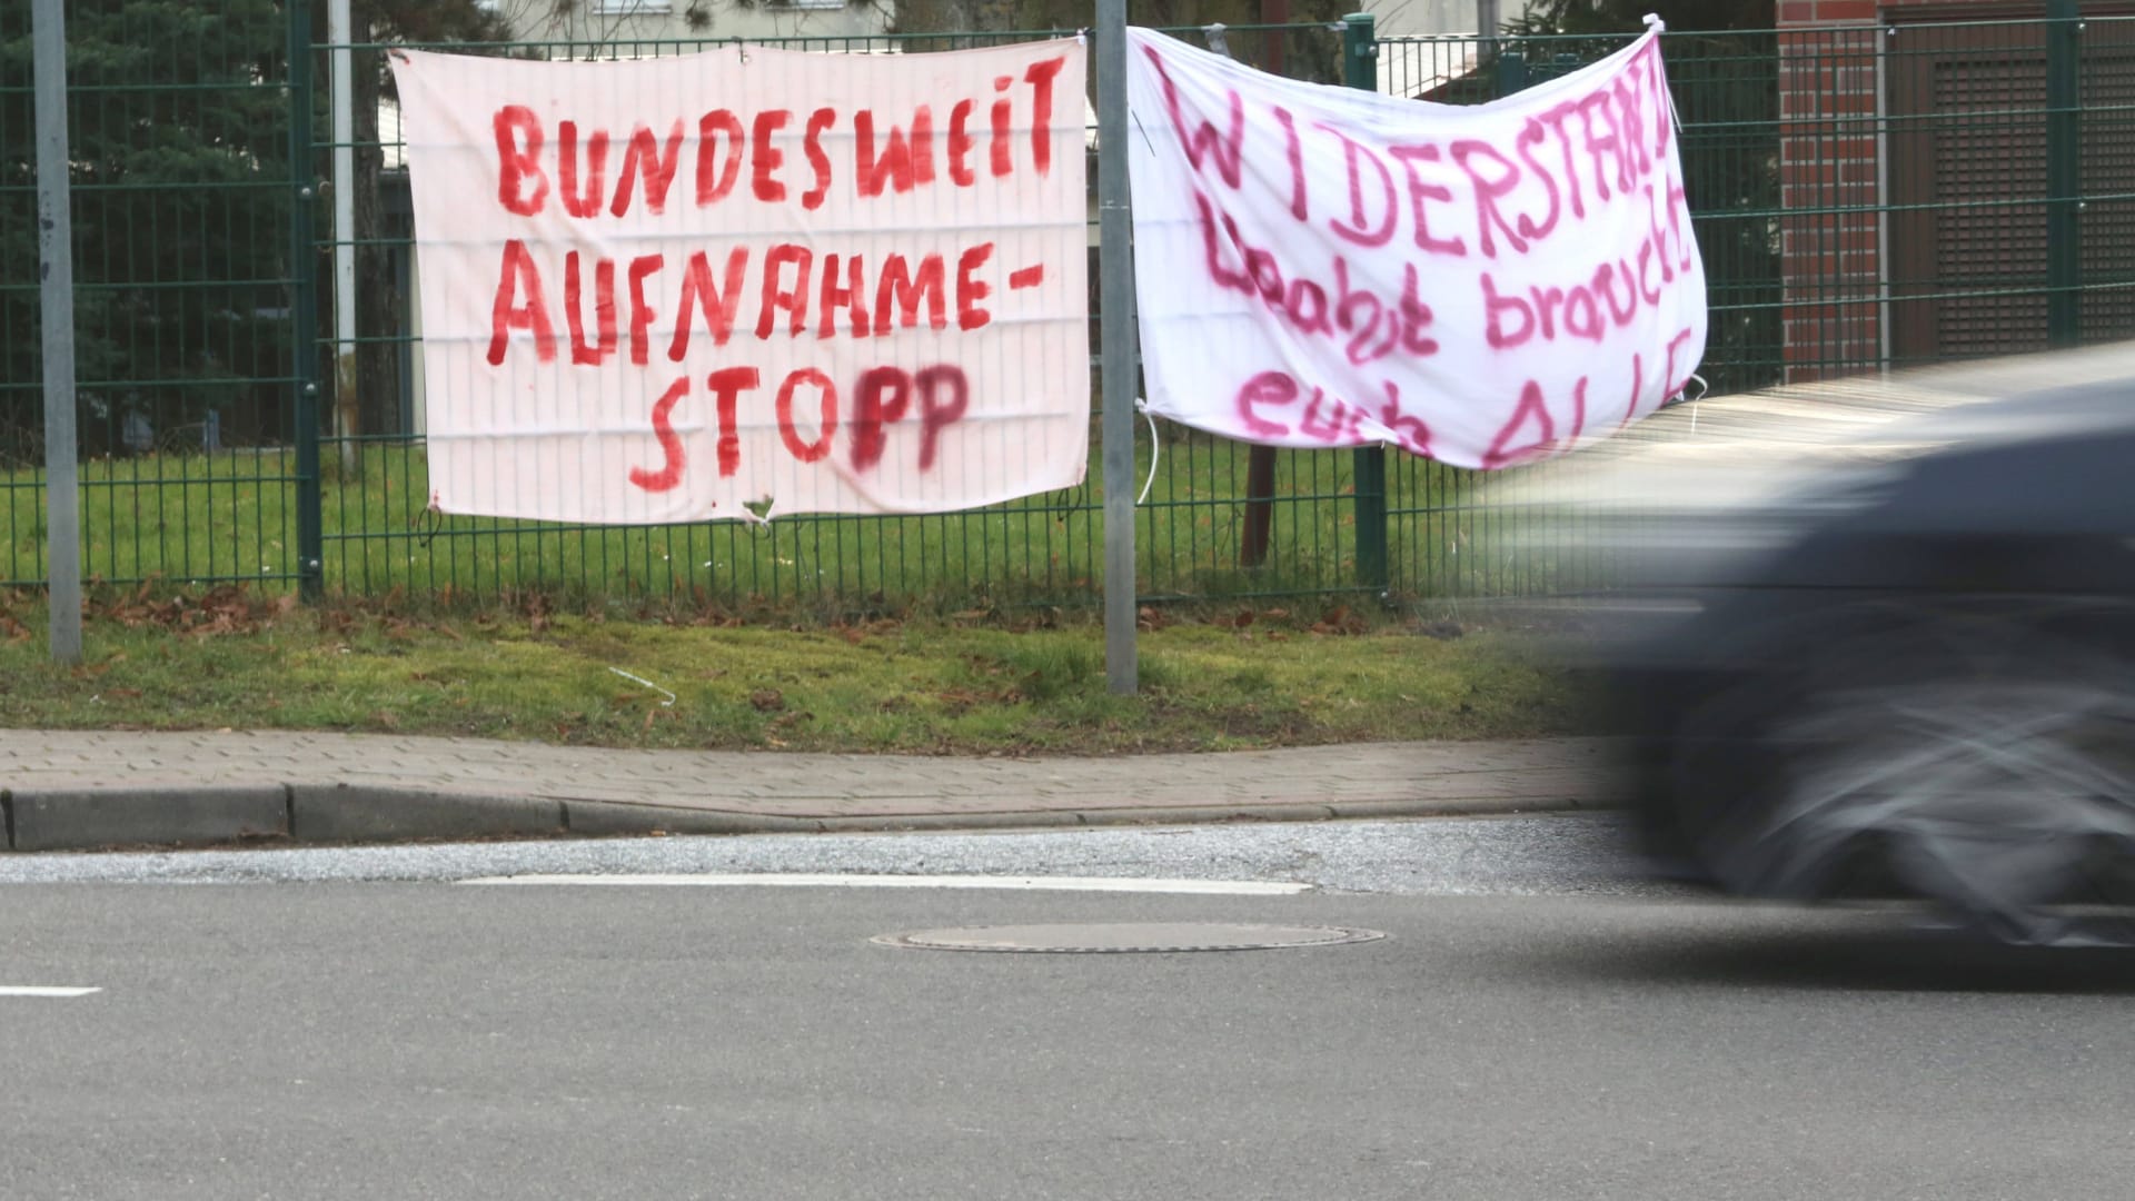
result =
M75 222L66 152L66 17L34 0L36 261L45 323L45 581L51 658L81 662L81 489L75 474Z

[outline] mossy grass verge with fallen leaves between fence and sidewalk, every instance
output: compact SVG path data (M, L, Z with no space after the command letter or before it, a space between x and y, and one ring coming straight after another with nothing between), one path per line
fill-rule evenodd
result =
M216 590L100 600L81 665L0 605L0 727L307 729L640 748L1238 750L1584 733L1576 675L1518 633L1343 609L1144 611L1140 692L1091 618L828 628L696 613L408 615ZM626 675L628 673L628 675ZM634 680L632 680L634 677ZM668 699L673 697L673 701Z

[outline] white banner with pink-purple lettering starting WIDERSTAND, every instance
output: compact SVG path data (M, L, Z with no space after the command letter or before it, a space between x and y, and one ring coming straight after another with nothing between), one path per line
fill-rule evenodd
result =
M1127 34L1151 412L1503 468L1652 412L1704 357L1657 30L1480 107Z

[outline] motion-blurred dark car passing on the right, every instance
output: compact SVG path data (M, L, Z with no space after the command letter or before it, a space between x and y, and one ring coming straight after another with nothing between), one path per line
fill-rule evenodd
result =
M1655 872L2135 945L2135 344L1697 408L1565 492Z

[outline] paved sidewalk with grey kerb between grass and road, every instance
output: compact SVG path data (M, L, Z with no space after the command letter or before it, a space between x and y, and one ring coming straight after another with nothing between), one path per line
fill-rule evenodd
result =
M0 731L0 848L1535 812L1608 804L1606 759L1601 739L948 759Z

